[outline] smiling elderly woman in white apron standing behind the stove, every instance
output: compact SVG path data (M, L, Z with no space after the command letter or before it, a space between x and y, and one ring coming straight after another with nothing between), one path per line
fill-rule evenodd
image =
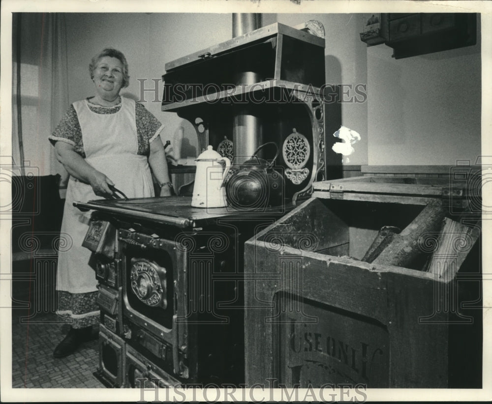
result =
M154 196L151 169L161 186L160 196L169 196L172 187L159 138L163 126L142 105L120 96L129 78L124 55L104 49L92 58L89 70L95 95L74 102L49 137L70 174L62 233L73 241L58 259L57 313L67 317L71 328L56 347L56 358L90 340L92 325L99 320L96 279L88 265L91 252L82 247L90 212L81 212L72 202L109 197L112 186L129 198Z

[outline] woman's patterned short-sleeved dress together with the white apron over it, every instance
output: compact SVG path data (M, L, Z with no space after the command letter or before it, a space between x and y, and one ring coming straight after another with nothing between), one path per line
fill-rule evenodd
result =
M129 198L154 196L148 156L163 125L145 107L129 98L113 107L92 104L90 99L74 102L49 137L52 144L74 146L92 167L104 173ZM62 234L68 243L60 248L57 270L57 314L73 328L98 322L95 303L97 282L89 266L91 251L82 247L91 212L81 212L74 201L101 199L92 187L74 177L67 186ZM65 248L66 247L66 248Z

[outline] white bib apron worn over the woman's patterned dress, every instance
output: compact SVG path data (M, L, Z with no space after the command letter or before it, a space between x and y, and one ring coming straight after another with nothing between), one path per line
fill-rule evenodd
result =
M128 198L154 196L152 176L146 156L138 155L135 101L122 97L116 114L96 114L86 100L73 103L82 128L86 161L111 179ZM81 212L72 202L102 199L92 187L70 177L68 181L62 233L72 238L72 247L60 251L57 290L70 293L96 291L94 270L88 265L91 251L82 247L89 229L91 212Z

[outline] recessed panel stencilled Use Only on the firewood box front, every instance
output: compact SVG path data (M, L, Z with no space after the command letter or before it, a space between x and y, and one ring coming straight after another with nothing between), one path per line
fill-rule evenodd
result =
M278 302L282 292L276 295ZM286 307L300 303L285 296ZM288 299L290 297L290 300ZM307 298L302 310L281 312L274 335L274 375L301 388L329 384L387 387L389 334L371 317L360 316Z

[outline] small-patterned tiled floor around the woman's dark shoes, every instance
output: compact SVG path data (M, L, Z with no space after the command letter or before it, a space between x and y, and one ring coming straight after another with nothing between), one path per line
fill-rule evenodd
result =
M69 329L54 313L24 319L12 310L13 388L104 388L93 375L98 366L98 343L81 345L65 358L55 359L53 350Z

